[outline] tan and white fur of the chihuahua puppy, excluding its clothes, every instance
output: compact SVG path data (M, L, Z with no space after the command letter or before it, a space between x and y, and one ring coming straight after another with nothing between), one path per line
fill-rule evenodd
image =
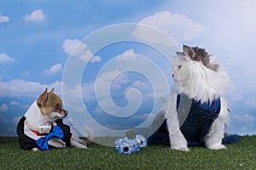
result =
M61 98L54 94L54 89L55 88L52 88L50 92L48 92L47 88L45 88L44 93L41 94L26 111L25 132L29 132L26 128L39 132L42 130L42 126L55 126L57 119L62 119L68 115L68 111L62 108ZM89 127L87 129L89 133L88 139L92 141L93 133ZM29 133L29 135L33 139L39 138L32 133ZM59 148L65 147L65 144L61 144L61 139L50 139L48 143ZM79 139L79 136L75 136L74 134L70 139L70 144L76 148L87 149L86 142L83 139ZM38 148L33 148L32 150L38 150Z

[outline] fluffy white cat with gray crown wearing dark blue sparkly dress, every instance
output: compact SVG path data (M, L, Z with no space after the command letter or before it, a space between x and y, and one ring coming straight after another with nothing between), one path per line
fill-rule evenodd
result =
M174 88L164 106L172 149L188 151L194 141L210 150L225 149L229 110L223 96L230 79L222 65L205 49L186 45L172 64Z

